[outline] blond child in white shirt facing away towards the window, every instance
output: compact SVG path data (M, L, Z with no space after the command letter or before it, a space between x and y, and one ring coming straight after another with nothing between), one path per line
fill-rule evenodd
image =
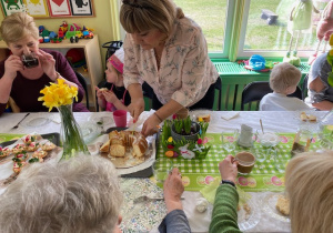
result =
M310 110L302 100L287 97L295 92L302 73L294 65L282 62L276 64L270 75L270 87L273 93L269 93L260 101L261 111L300 111Z

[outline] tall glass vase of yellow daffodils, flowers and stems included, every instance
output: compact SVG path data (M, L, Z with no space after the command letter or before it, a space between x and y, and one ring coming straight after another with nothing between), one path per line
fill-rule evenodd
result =
M73 98L78 100L78 88L69 87L64 80L58 79L58 83L50 83L40 91L44 94L38 100L51 111L57 108L61 118L60 141L63 148L61 159L70 159L78 154L88 154L88 148L82 139L82 133L72 112Z

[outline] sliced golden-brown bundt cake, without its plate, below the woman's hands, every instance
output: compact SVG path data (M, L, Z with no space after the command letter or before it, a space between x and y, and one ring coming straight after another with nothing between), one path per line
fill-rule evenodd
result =
M100 151L109 152L111 156L125 156L127 151L132 151L132 155L141 158L148 150L148 142L140 132L117 130L109 133L109 142L105 142Z

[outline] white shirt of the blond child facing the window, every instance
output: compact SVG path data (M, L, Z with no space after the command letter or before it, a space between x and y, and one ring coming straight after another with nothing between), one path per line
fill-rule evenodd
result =
M280 93L269 93L260 101L260 111L305 111L311 110L299 98L286 97Z

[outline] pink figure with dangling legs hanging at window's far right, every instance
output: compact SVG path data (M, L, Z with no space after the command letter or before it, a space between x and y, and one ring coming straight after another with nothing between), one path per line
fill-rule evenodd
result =
M333 0L331 0L326 7L324 8L321 20L316 26L316 38L319 39L317 47L314 53L309 58L309 64L312 64L313 61L317 58L317 51L322 41L324 40L323 53L326 51L327 41L330 40L330 36L333 33Z

